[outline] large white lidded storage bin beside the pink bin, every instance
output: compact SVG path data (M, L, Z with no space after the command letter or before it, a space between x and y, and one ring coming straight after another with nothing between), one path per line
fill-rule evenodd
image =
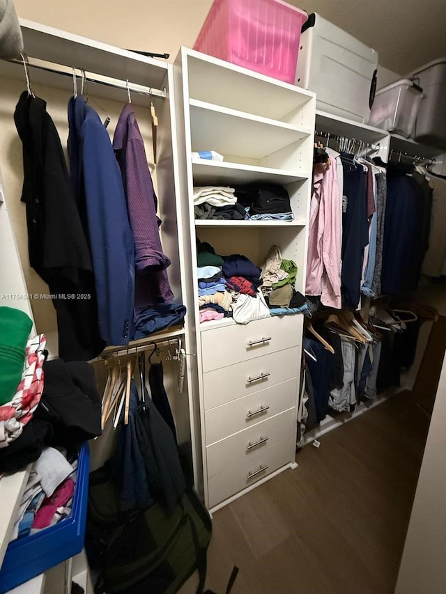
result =
M316 109L368 122L378 52L317 14L302 30L295 84L316 93Z

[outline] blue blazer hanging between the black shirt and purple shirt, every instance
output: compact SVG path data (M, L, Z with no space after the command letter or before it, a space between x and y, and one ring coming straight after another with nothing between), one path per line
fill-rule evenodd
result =
M133 336L134 243L112 142L84 97L68 102L70 175L87 219L99 331L111 345Z

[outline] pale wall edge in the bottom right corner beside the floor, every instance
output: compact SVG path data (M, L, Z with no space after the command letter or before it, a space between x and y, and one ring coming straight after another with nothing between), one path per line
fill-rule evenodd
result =
M395 594L446 592L446 357Z

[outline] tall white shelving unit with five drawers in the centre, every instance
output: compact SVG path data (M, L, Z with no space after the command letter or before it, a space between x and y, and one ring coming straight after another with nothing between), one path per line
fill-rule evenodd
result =
M295 467L302 316L199 324L196 239L261 265L277 244L298 265L304 291L315 96L296 86L182 48L174 64L183 215L190 221L187 278L197 329L205 502L211 511ZM212 80L212 84L209 81ZM216 150L223 162L192 158ZM195 220L193 188L270 182L289 192L295 219Z

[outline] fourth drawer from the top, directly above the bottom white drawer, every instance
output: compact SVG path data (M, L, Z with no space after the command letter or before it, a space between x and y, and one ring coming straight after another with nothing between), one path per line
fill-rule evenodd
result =
M256 455L272 448L279 441L284 439L293 441L296 431L294 422L295 408L291 408L208 446L206 448L208 478L220 474L233 464L256 458Z

